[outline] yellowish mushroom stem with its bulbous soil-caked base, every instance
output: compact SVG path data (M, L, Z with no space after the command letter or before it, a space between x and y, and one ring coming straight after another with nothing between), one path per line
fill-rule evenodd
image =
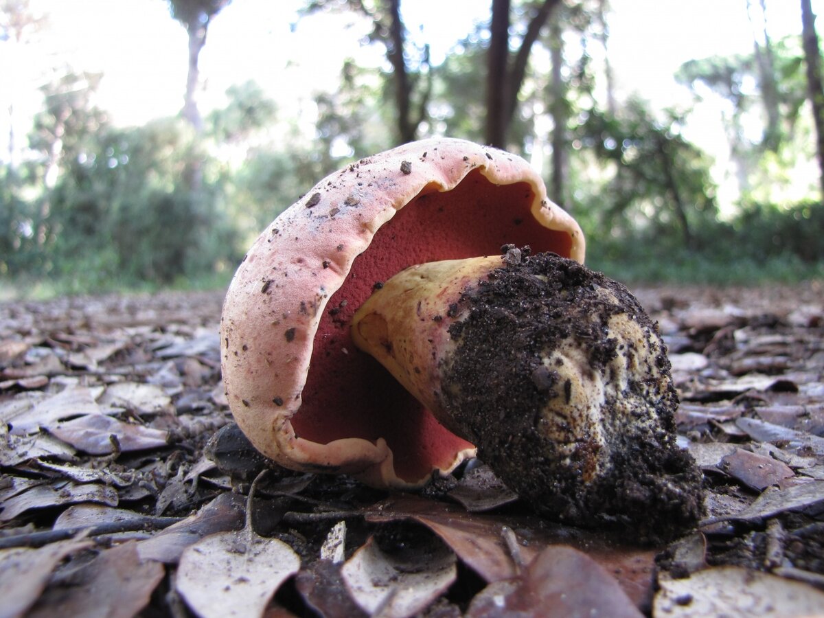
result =
M700 517L656 325L620 283L554 254L412 266L352 335L538 511L656 539Z

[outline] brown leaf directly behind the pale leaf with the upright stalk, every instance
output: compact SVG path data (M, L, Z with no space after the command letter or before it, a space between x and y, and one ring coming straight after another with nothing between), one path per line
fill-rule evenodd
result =
M152 538L138 542L143 559L175 564L183 551L204 536L243 527L246 499L240 494L220 494L197 513L158 532Z

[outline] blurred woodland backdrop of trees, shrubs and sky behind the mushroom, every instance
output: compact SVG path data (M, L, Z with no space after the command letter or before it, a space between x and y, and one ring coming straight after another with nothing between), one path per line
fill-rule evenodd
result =
M221 288L417 138L525 157L630 283L824 277L824 0L0 0L0 300Z

